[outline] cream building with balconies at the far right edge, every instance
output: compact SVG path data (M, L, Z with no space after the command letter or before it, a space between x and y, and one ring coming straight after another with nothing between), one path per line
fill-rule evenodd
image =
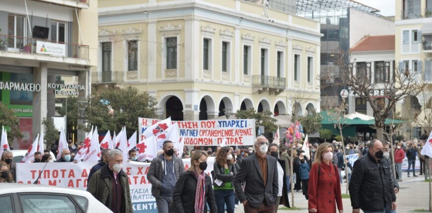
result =
M406 119L424 119L432 97L432 0L396 0L395 60L400 70L415 72L425 92L407 97L397 105ZM427 114L425 114L427 113ZM428 116L430 117L430 116ZM429 135L422 125L406 127L407 138Z

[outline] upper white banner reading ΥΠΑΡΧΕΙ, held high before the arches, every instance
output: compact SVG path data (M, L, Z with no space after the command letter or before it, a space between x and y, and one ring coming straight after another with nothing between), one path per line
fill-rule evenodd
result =
M160 120L138 118L140 138L143 132ZM185 145L217 146L227 139L227 145L252 145L255 139L254 119L172 121L179 125L180 139Z

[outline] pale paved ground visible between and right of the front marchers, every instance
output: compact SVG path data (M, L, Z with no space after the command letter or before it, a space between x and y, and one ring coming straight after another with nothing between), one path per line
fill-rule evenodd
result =
M424 179L424 176L411 176L411 178L407 178L406 173L404 173L403 181L399 182L399 193L396 194L397 213L409 213L416 209L429 209L429 183L424 182ZM346 183L341 185L342 194L345 193L345 185ZM289 194L289 196L291 196L291 194ZM289 202L291 203L291 199L289 199ZM349 198L342 199L342 203L343 212L351 213L352 208ZM307 200L301 192L294 192L294 205L303 210L279 210L278 213L307 213ZM283 206L280 206L280 208L283 208ZM244 213L242 205L236 208L235 213Z

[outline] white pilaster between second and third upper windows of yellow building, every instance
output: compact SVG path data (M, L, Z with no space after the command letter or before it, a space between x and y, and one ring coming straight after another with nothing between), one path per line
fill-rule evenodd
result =
M148 40L148 49L150 55L148 56L148 81L156 81L156 59L158 57L156 51L156 21L149 21L147 25L147 40Z

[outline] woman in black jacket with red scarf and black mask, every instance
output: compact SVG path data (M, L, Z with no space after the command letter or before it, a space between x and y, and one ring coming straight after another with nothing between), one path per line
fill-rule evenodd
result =
M217 212L211 178L207 169L207 153L195 150L191 156L191 167L180 175L174 187L170 213L207 213L206 204L212 213Z

